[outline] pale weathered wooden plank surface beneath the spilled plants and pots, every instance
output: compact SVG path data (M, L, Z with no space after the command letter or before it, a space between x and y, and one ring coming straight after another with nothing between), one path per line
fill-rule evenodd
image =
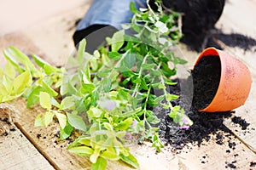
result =
M26 48L26 53L39 53L55 65L65 65L67 56L74 49L72 42L74 21L82 17L88 7L88 4L85 4L81 8L52 17L38 26L19 31L14 38L17 40L22 37L24 43L20 43L20 47L33 46ZM218 21L217 27L225 33L235 31L256 38L253 27L256 25L256 19L253 18L255 7L255 0L227 1L224 14ZM4 41L8 42L7 39L9 37L5 37ZM248 133L244 133L241 131L241 127L234 126L227 119L226 126L238 136L238 138L230 137L229 139L236 143L236 150L230 149L228 141L219 145L210 140L204 141L201 147L191 145L191 148L183 150L180 154L172 152L170 147L166 147L160 154L155 154L149 143L133 144L131 152L137 156L141 169L224 169L228 163L235 161L237 169L255 168L250 167L250 162L256 160L256 155L252 151L256 148L256 133L252 129L256 127L256 60L253 51L244 52L241 48L230 48L222 42L219 43L222 44L226 52L241 59L252 72L251 94L246 104L236 109L236 116L241 116L250 123ZM15 46L15 44L19 44L19 42L13 41L13 44L9 45ZM198 56L183 44L177 48L177 55L189 60L187 68L193 67ZM0 169L90 169L88 158L74 156L66 150L70 141L61 141L57 138L57 123L53 123L49 127L33 126L35 117L44 110L38 106L26 109L24 99L17 99L8 105L15 108L15 111L12 112L15 124L5 128L15 128L16 130L9 132L8 136L0 136ZM16 148L20 148L20 150L16 150ZM118 161L110 162L108 169L131 169L131 167Z

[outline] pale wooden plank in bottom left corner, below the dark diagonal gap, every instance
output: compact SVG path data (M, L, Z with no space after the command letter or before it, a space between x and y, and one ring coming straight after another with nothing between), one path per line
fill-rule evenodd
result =
M0 104L0 169L54 169L12 122L14 111Z

